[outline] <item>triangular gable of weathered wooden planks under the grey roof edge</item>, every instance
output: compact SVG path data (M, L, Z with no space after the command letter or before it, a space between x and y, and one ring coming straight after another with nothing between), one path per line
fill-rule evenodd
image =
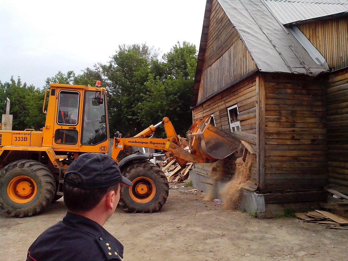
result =
M197 104L256 69L217 0L213 0Z

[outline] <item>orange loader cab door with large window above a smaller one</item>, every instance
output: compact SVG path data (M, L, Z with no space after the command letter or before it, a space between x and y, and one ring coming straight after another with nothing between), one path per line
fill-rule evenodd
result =
M57 149L76 150L80 141L82 93L78 89L57 89L57 92L52 145Z

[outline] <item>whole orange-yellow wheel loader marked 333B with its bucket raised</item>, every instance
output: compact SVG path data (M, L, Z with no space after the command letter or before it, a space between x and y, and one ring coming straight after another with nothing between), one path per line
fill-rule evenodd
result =
M176 157L181 166L212 163L239 146L239 140L224 138L226 133L209 124L210 116L190 127L189 150L182 148L167 117L132 138L122 138L117 132L110 139L107 91L100 81L95 87L49 86L43 107L46 123L40 131L0 130L0 208L11 216L36 215L61 198L65 170L82 153L111 155L122 174L133 182L130 188L122 187L120 205L131 213L152 213L165 204L169 186L164 173L150 159L166 155ZM8 125L2 122L6 129ZM164 125L167 137L147 138L160 125ZM132 152L132 147L162 152Z

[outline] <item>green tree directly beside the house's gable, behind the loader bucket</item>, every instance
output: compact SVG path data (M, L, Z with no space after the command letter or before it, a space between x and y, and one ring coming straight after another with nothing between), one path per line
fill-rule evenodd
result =
M145 82L147 92L142 94L143 100L136 109L145 125L167 116L177 133L185 136L192 124L190 98L197 64L196 47L187 42L181 46L178 42L163 60L165 77L149 75Z

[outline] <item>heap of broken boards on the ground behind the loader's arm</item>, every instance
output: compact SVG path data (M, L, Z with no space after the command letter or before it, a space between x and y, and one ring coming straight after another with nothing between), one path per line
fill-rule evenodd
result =
M161 169L167 176L169 182L185 181L189 177L189 171L193 163L186 164L186 167L182 168L176 161L175 157L169 157L161 163Z

